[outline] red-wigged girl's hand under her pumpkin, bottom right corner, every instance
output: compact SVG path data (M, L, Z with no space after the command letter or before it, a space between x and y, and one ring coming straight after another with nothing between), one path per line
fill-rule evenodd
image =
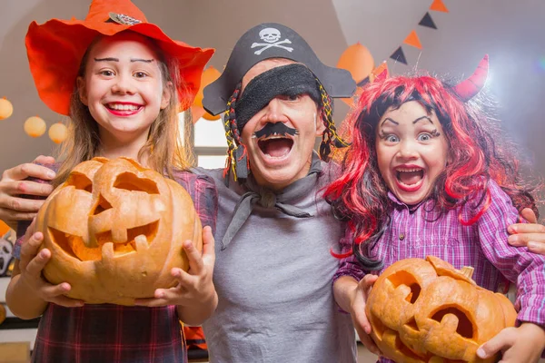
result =
M506 328L477 349L480 358L502 352L500 363L535 363L545 348L545 330L532 323Z

